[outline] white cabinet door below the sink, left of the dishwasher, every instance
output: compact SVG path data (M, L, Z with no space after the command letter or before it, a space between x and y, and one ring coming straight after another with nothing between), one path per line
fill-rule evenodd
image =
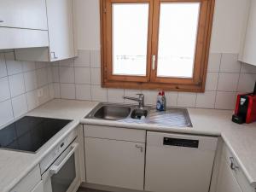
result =
M143 190L144 143L85 137L87 183Z

